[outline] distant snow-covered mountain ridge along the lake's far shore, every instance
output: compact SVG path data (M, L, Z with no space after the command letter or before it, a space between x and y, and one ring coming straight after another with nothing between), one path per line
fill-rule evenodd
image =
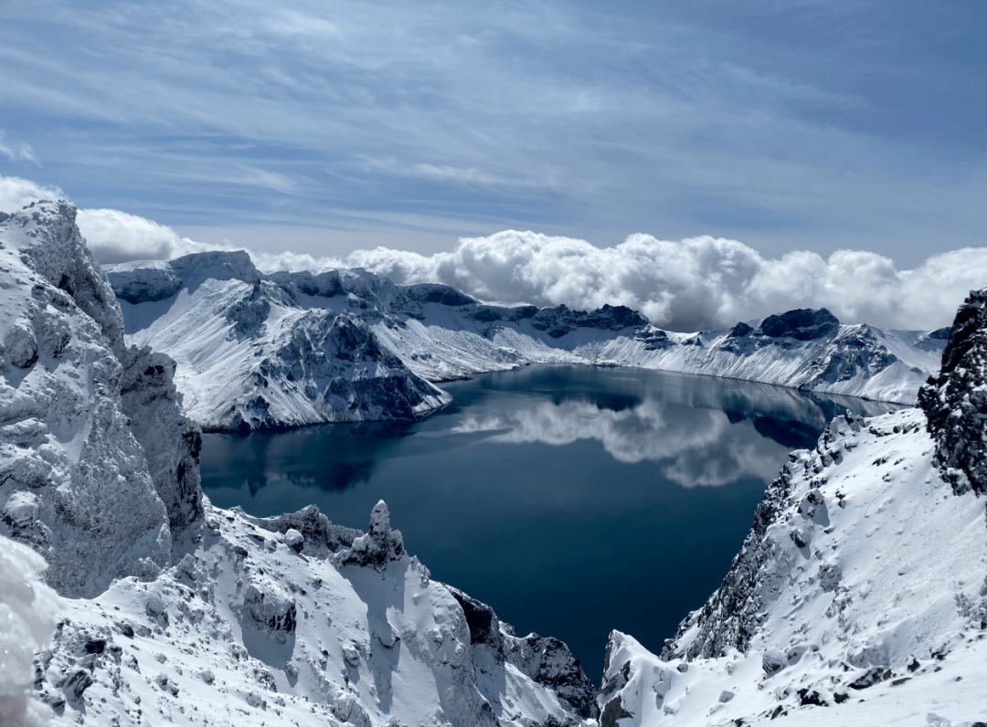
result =
M842 326L825 310L676 333L625 307L487 305L360 269L267 275L246 253L107 270L127 340L175 358L187 410L207 429L408 418L449 400L422 380L526 363L641 366L912 403L946 343L945 330Z

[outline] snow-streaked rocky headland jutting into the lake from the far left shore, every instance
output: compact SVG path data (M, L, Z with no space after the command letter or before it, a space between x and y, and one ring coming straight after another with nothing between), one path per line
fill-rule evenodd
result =
M381 346L363 316L302 305L341 291L339 273L268 279L246 253L202 253L146 270L116 265L111 276L128 313L172 304L156 335L130 340L175 354L187 410L207 430L409 420L451 400ZM180 290L193 305L175 305Z

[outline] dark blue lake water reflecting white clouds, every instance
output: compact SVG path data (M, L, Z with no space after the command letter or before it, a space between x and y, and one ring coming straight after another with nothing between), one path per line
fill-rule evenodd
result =
M764 488L835 413L897 408L712 377L526 367L443 385L416 423L206 434L202 487L268 516L316 503L365 530L384 499L432 577L598 683L610 630L655 653L720 585Z

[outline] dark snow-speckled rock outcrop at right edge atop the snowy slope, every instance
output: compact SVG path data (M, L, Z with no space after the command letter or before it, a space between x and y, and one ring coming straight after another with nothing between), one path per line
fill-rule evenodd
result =
M956 314L943 369L919 394L936 439L936 458L956 494L987 493L987 288Z

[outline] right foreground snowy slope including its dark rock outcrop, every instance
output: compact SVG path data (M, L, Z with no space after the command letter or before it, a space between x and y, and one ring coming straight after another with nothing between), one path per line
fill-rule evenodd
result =
M987 290L921 408L838 416L768 487L660 658L614 632L601 725L970 725L987 714Z

